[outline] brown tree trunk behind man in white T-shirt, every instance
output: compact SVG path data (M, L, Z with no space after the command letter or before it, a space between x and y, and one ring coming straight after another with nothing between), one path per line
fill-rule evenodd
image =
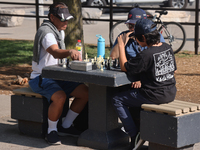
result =
M77 40L81 40L83 45L82 55L85 56L85 46L83 38L83 20L82 7L80 0L53 0L53 2L64 2L69 9L70 14L74 17L69 20L67 29L65 30L65 45L66 49L75 49Z

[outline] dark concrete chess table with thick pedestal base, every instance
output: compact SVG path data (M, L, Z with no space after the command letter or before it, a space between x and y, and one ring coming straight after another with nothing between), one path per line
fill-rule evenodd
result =
M89 85L89 129L80 135L78 145L94 149L127 146L128 136L121 131L111 104L113 94L130 88L126 73L100 69L85 72L48 66L42 70L42 77Z

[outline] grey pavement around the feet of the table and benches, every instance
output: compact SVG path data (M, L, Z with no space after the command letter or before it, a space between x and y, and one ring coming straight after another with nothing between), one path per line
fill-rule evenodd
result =
M18 130L17 120L11 119L11 97L10 95L0 95L0 149L1 150L92 150L87 147L76 146L77 138L62 137L62 145L50 146L42 138L35 138L23 135ZM125 150L117 148L113 150ZM141 150L148 149L148 142ZM196 144L194 150L200 150L200 143Z

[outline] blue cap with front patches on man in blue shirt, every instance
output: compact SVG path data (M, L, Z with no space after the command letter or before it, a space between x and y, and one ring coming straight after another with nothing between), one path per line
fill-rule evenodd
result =
M128 14L128 20L126 21L126 23L136 23L136 21L138 19L146 19L147 18L147 14L143 9L140 8L133 8L129 11Z

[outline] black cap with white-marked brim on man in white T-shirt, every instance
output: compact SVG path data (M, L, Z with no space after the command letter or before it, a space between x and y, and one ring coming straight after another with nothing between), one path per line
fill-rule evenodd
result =
M52 11L53 15L58 16L61 21L66 21L66 20L70 20L72 18L74 18L70 13L68 8L60 8L60 7L56 7L53 8Z

